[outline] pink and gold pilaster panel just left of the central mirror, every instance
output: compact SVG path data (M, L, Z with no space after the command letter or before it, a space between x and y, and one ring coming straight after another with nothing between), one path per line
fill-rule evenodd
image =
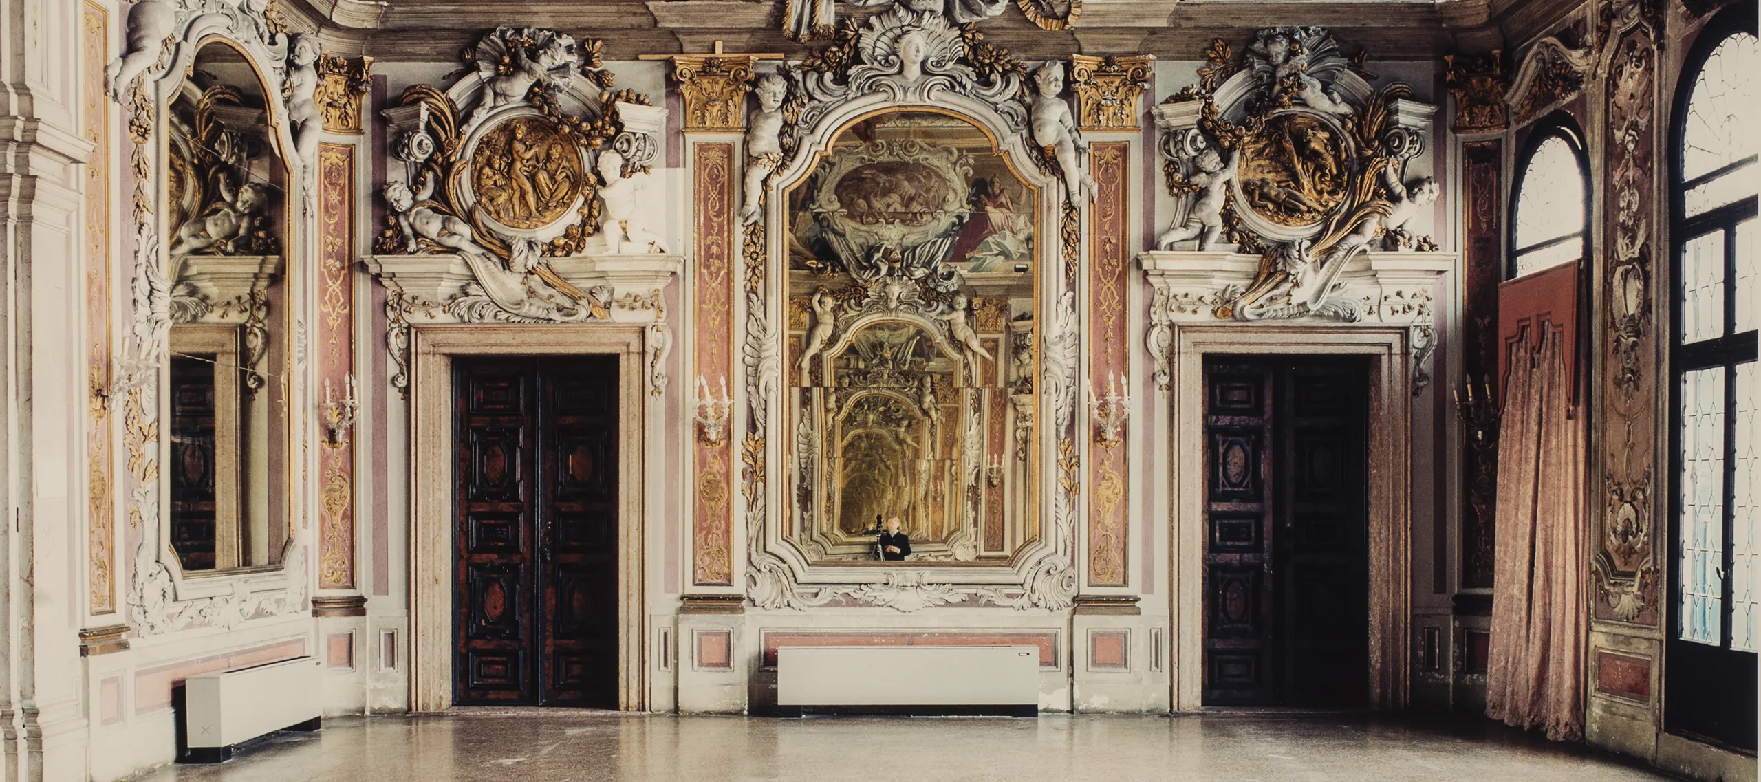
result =
M743 95L743 93L741 93ZM738 109L738 106L736 106ZM687 111L689 114L689 111ZM697 199L697 273L696 273L696 366L699 396L727 398L733 368L734 305L733 282L733 206L734 144L694 144L692 194ZM699 586L733 586L733 484L729 467L733 423L727 407L697 410L696 432L696 509L692 523L690 581ZM703 414L720 414L720 426L704 426Z

